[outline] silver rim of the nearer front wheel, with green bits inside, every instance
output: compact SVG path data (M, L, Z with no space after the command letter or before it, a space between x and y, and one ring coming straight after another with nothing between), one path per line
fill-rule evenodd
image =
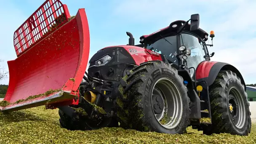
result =
M153 87L151 105L155 118L163 127L175 128L181 121L183 103L177 85L168 78L160 78Z

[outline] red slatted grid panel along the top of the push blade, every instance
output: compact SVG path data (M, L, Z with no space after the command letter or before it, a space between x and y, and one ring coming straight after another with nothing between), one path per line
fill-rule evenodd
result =
M20 56L22 53L32 48L33 45L49 35L48 30L50 26L56 23L54 19L59 16L65 16L65 19L58 24L61 27L70 18L67 5L63 5L59 0L46 0L29 18L21 24L21 26L14 32L13 44L16 55ZM54 30L54 29L53 29Z

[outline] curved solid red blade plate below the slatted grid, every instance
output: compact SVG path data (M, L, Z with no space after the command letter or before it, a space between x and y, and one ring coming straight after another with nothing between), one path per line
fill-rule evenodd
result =
M4 100L12 103L45 93L49 89L61 89L68 94L60 96L55 103L65 100L65 103L77 104L73 98L77 96L77 89L83 79L89 50L89 27L83 8L77 11L74 19L52 31L44 39L38 40L17 59L8 61L10 80ZM74 78L75 82L69 78ZM66 97L69 99L64 99ZM38 99L43 100L45 97ZM25 104L21 107L26 108L32 102L35 99L21 103ZM46 102L41 105L44 104ZM17 105L20 104L14 104L11 108Z

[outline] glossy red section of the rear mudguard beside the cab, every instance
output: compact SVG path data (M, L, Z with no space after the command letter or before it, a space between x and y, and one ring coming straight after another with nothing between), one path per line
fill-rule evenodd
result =
M196 69L196 78L201 79L209 76L210 70L213 67L213 64L216 64L217 61L203 61L197 66Z

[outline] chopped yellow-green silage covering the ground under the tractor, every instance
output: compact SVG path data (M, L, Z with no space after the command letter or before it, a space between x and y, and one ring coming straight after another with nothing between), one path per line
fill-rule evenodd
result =
M35 107L8 115L0 114L0 144L85 144L85 143L212 143L254 144L256 125L249 136L213 134L187 128L188 133L170 135L155 132L139 132L122 128L102 128L94 131L68 131L59 125L58 109Z

